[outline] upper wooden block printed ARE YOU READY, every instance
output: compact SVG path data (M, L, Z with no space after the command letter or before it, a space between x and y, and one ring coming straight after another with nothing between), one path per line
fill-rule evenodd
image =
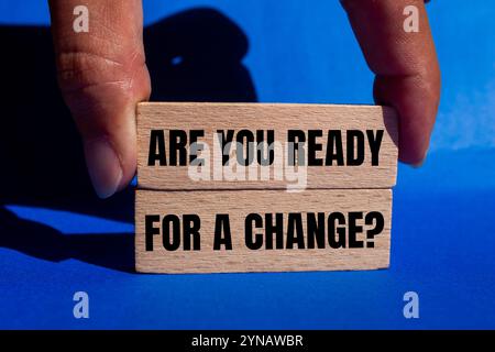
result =
M140 103L139 187L161 190L285 189L288 185L296 185L296 188L301 186L302 189L391 188L395 185L397 170L396 120L392 109L376 106ZM267 179L261 177L262 167L256 169L258 158L253 155L255 152L239 153L241 162L249 155L253 156L250 164L254 166L252 174L248 167L237 178L226 176L227 172L233 169L230 166L235 165L237 158L231 160L230 166L222 165L222 151L215 146L216 143L217 146L222 145L218 142L222 135L220 132L223 132L223 141L229 141L228 130L233 131L233 142L238 138L240 142L250 141L251 135L253 141L260 141L262 136L268 141L268 133L273 133L274 141L282 148L280 152L274 150L275 162L264 166L271 170ZM209 155L201 154L206 163L201 168L205 170L201 179L198 179L197 174L191 177L191 168L188 167L190 152L194 154L189 143L195 140L199 145L209 146ZM290 175L288 168L284 167L288 155L294 155L287 153L287 142L293 140L299 142L296 144L298 153L306 153L302 154L306 163L297 158L299 165L307 166L298 168L306 173L306 185L300 185L302 178L296 176L296 180L294 174ZM231 152L234 154L234 151L241 150L232 147ZM235 168L239 169L242 168ZM278 174L275 174L275 169Z

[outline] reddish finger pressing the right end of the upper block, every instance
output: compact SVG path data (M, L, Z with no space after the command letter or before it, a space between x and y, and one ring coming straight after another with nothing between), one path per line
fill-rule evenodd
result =
M440 69L422 0L343 0L352 29L375 73L376 103L399 114L399 160L426 156L440 99ZM406 32L404 10L418 10L418 32Z

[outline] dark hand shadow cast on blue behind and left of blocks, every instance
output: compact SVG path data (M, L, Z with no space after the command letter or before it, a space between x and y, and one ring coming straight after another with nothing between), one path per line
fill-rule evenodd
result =
M134 194L109 200L94 195L77 130L56 82L46 26L0 26L2 84L9 87L0 132L0 245L34 257L69 257L110 268L133 267L129 234L63 234L23 220L2 205L63 209L133 222ZM198 8L144 30L152 100L256 101L242 64L249 42L217 10ZM117 251L117 252L116 252ZM110 253L118 253L111 256Z

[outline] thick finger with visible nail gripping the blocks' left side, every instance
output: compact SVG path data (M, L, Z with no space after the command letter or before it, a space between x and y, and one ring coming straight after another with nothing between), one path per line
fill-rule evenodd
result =
M87 32L74 29L74 21L84 15L74 14L80 4L50 1L56 65L64 99L82 136L89 176L106 198L128 185L136 167L135 105L147 100L151 90L142 3L85 0Z

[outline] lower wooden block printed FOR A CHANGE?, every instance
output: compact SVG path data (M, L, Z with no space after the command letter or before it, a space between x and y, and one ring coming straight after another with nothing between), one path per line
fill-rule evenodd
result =
M389 263L391 217L391 189L139 189L136 271L384 268Z

